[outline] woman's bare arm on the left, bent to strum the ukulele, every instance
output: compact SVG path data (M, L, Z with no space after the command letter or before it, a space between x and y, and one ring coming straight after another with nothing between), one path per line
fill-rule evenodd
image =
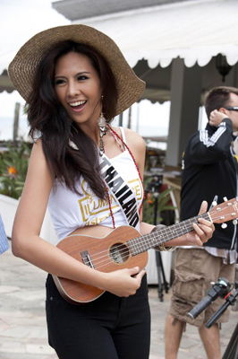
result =
M13 254L55 276L96 286L118 296L135 293L145 274L142 270L134 276L139 267L102 273L83 265L39 237L52 184L41 141L38 140L33 145L25 186L13 224Z

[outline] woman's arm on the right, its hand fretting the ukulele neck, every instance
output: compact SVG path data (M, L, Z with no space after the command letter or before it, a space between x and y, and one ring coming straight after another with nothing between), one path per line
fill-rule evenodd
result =
M126 141L131 149L135 161L137 162L141 177L144 174L144 163L145 163L145 150L146 145L138 134L134 133L131 130L125 131ZM143 178L143 177L142 177ZM204 201L200 207L200 215L206 213L208 204ZM194 223L193 229L194 232L184 234L182 237L176 238L173 241L168 241L165 243L166 247L174 246L188 246L188 245L199 245L202 246L203 243L208 241L215 230L214 224L204 220L203 218L199 219L200 224ZM155 228L155 225L142 222L142 211L140 213L140 234L148 234Z

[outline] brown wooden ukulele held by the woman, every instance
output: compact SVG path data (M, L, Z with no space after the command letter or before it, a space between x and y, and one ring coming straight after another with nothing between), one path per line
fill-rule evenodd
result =
M146 267L147 250L155 248L166 241L174 240L183 234L193 231L192 223L204 218L212 223L225 223L238 217L238 202L233 198L225 203L214 206L203 215L187 219L162 228L158 232L140 235L129 225L116 228L104 238L93 238L87 235L69 235L57 244L60 250L76 258L85 266L110 273L118 269ZM63 277L53 276L55 285L68 302L82 304L97 299L105 291L92 285L85 285Z

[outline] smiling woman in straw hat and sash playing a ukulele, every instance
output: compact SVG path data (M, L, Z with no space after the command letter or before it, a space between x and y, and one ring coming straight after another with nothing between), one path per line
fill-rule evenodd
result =
M140 98L144 83L112 39L84 25L40 32L19 50L9 74L28 103L35 140L13 225L13 254L50 274L49 343L61 359L146 359L150 318L143 266L120 268L123 258L113 249L118 269L105 273L94 270L87 250L81 251L81 262L55 246L65 237L76 244L95 237L104 243L113 229L127 224L141 234L154 228L141 222L144 141L129 129L109 125ZM39 237L47 206L55 245ZM166 246L202 245L214 231L204 219L193 228ZM166 250L165 245L158 250ZM59 277L102 293L74 305Z

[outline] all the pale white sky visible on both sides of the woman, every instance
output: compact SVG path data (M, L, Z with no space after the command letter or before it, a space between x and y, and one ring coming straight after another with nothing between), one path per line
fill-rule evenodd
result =
M48 28L70 23L52 8L51 0L0 0L0 71L5 58L11 61L19 48L33 35ZM7 62L8 62L7 61ZM28 133L27 119L23 114L24 100L14 91L0 93L0 140L13 137L15 103L20 102L20 136ZM132 106L132 129L143 136L166 136L168 133L170 102L163 105L141 101ZM127 126L128 111L123 115ZM116 125L116 121L115 121Z

